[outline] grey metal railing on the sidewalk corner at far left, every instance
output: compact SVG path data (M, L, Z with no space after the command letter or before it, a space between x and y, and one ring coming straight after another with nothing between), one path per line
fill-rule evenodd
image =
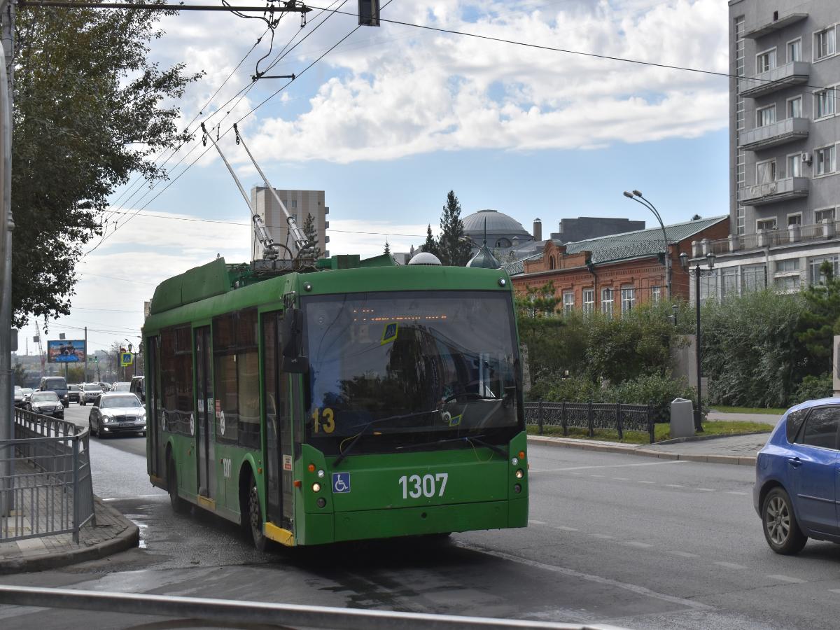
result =
M0 542L72 533L94 519L87 427L14 410L14 438L0 440Z

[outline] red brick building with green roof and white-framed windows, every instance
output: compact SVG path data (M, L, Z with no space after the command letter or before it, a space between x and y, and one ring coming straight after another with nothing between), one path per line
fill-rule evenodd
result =
M680 267L680 253L691 257L692 241L726 238L729 217L666 225L665 234L671 291L674 297L688 300L690 276ZM542 252L505 267L517 293L554 283L554 295L564 311L624 312L668 297L663 249L662 228L650 228L576 243L548 240Z

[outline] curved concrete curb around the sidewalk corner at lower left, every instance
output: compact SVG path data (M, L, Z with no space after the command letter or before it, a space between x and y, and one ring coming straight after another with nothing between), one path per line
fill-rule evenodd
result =
M68 564L77 564L79 562L87 562L87 560L105 558L108 555L137 547L140 541L140 528L129 521L128 518L124 517L122 512L103 503L98 496L94 495L93 501L96 503L94 512L108 512L113 518L123 522L125 528L123 528L122 532L113 538L108 538L108 540L103 540L101 543L96 543L90 547L71 549L58 554L48 553L29 556L27 558L0 559L0 575L56 569L67 566Z

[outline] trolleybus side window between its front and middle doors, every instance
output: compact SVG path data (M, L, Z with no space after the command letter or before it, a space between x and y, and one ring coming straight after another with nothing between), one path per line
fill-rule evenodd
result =
M216 441L260 448L260 359L255 308L213 318Z

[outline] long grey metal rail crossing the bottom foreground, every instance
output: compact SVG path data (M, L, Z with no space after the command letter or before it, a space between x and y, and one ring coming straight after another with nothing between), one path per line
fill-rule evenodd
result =
M367 630L479 630L480 628L553 628L554 630L621 630L616 626L593 623L556 623L491 617L460 617L423 612L393 612L276 604L269 601L234 601L150 595L76 591L32 586L0 585L0 604L48 606L86 611L117 612L133 615L159 615L176 619L213 622L213 625L243 624L271 627L355 628ZM156 625L156 624L155 624Z

